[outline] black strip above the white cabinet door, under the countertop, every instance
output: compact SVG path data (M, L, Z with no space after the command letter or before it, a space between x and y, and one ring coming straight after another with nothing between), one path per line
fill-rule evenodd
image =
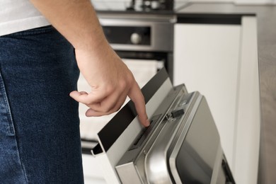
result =
M177 16L177 23L241 25L242 16L255 14L183 13Z

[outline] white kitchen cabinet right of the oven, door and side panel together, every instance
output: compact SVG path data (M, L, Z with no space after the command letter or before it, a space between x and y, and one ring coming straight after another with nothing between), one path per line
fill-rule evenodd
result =
M256 21L176 23L173 84L207 98L236 183L257 183L260 94Z

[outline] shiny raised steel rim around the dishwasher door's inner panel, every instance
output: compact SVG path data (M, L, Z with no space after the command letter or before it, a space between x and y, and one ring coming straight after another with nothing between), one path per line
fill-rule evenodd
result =
M173 110L185 109L185 115L180 117L169 117L166 122L166 127L160 133L159 139L156 139L151 146L149 153L146 156L145 169L149 183L174 183L171 178L170 166L168 166L168 158L171 154L171 149L176 144L180 132L187 132L190 127L191 119L195 115L197 106L200 103L199 93L194 93L190 103L183 103L180 99L177 101ZM187 98L186 98L187 99Z

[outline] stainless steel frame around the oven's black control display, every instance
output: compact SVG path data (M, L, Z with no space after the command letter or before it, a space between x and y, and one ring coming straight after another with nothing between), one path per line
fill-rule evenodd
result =
M151 16L147 17L134 15L99 16L100 24L103 26L132 26L149 27L151 30L151 45L130 45L130 44L110 44L114 50L130 51L173 51L173 22L175 16ZM123 34L123 33L122 33Z

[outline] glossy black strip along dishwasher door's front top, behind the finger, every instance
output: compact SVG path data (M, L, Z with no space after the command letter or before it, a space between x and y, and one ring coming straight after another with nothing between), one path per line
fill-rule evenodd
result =
M168 79L166 69L161 69L143 88L145 102L147 103L154 93L161 87L164 81ZM114 117L98 132L98 137L103 144L103 149L108 151L110 146L120 137L128 125L137 116L134 103L130 100Z

